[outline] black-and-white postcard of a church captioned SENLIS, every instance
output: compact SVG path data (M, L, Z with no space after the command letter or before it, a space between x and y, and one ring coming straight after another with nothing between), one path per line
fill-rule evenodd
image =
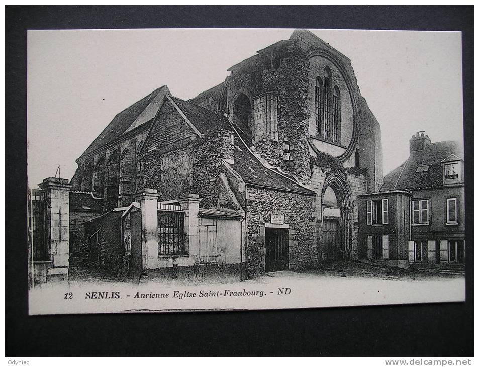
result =
M461 64L460 32L28 31L29 313L464 301Z

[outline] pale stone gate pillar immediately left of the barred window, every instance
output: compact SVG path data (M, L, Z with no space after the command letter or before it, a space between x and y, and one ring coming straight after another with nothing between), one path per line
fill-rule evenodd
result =
M158 192L144 189L135 194L141 210L141 250L143 269L154 267L158 258Z

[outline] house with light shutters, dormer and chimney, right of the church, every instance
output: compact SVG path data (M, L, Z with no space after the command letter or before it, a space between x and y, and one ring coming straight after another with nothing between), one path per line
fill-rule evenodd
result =
M409 141L409 158L360 196L360 258L392 266L462 268L464 161L455 141Z

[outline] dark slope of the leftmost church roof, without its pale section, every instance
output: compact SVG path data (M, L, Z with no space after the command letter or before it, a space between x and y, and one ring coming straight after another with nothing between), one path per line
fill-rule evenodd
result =
M100 135L93 140L85 152L80 156L80 159L86 157L97 149L100 149L116 139L118 139L123 133L129 130L130 126L137 120L140 114L150 105L160 91L167 89L164 85L158 89L153 90L148 96L142 98L140 101L135 102L130 107L126 108L119 114L117 114L108 126L100 133ZM144 121L145 123L151 123L152 119ZM138 125L141 126L141 125ZM138 127L136 126L136 127Z

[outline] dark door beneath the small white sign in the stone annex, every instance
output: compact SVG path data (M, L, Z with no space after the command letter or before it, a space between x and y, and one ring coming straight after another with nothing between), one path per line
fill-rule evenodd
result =
M288 229L266 228L266 272L288 269Z

